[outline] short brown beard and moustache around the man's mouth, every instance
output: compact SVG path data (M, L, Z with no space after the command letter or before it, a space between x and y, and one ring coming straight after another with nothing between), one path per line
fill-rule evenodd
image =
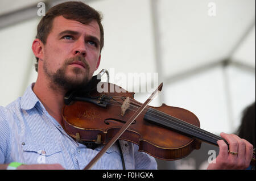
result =
M85 65L85 70L82 70L81 68L74 67L72 68L72 73L75 76L67 76L67 67L69 64L71 64L73 61L81 61ZM75 89L82 89L86 86L86 83L89 82L91 76L90 76L90 66L85 61L85 58L82 56L76 56L73 58L67 58L64 61L63 66L61 68L57 69L56 73L50 73L47 68L47 64L44 63L43 70L46 73L47 77L51 80L51 88L53 90L56 90L58 87L59 89L62 89L64 91L69 90L75 90Z

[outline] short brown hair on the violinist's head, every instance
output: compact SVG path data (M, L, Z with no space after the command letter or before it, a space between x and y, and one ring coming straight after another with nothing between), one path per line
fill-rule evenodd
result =
M94 10L92 7L86 5L83 2L71 1L60 3L59 5L51 7L45 16L40 20L38 24L38 32L36 39L46 44L49 32L52 29L53 19L57 16L62 15L66 19L76 20L82 24L88 24L93 20L96 20L100 27L100 50L104 46L104 30L101 24L102 15L100 12ZM35 70L38 71L38 57L36 57Z

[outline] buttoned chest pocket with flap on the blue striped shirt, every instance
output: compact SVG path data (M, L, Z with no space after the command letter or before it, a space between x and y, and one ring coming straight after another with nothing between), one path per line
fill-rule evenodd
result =
M63 154L58 145L35 145L26 141L22 144L22 148L25 164L63 163Z

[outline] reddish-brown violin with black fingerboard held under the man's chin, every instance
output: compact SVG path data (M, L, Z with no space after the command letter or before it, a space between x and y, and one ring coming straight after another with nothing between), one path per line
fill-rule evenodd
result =
M99 74L95 75L86 89L72 90L65 95L63 128L78 142L106 145L130 121L118 139L133 142L139 145L139 151L164 160L184 158L194 149L200 149L202 141L218 146L217 141L224 140L201 129L197 116L184 108L145 105L137 117L133 117L142 107L134 94L112 83L101 82ZM255 151L251 165L255 165Z

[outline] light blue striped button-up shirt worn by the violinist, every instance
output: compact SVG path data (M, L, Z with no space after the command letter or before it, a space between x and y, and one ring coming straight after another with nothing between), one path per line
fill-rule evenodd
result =
M28 86L24 95L0 107L0 164L60 163L65 169L84 169L100 148L89 149L77 143L46 111ZM126 169L156 169L150 155L138 145L121 141ZM118 146L113 145L92 169L123 169Z

